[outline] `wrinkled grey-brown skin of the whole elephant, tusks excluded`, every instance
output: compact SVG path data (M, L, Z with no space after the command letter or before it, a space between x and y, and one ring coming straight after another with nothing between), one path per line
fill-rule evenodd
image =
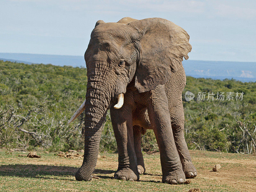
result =
M191 51L188 40L186 31L161 18L97 21L84 54L84 161L76 180L91 180L109 108L118 148L115 179L139 180L139 172L145 172L140 150L145 129L155 132L163 182L178 184L196 176L183 135L186 76L181 61ZM121 93L124 104L115 109Z

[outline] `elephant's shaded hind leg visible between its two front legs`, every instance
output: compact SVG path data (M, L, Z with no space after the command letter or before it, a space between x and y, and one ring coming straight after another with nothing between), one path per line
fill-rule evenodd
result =
M143 128L139 125L133 126L133 142L134 142L134 150L137 157L137 165L138 165L138 172L140 174L145 173L145 165L144 165L144 159L141 152L141 132Z

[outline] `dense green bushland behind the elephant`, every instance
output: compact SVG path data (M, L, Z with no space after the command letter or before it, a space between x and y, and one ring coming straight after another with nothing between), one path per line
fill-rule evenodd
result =
M83 148L83 116L68 119L84 100L86 69L69 66L27 65L0 61L0 147L50 150ZM185 92L195 94L185 100ZM197 100L206 92L205 100ZM208 92L214 93L207 100ZM234 100L217 100L217 92L234 92ZM235 99L244 92L243 100ZM253 153L256 141L256 83L187 77L183 92L184 134L188 148ZM27 132L26 132L27 131ZM155 136L148 130L142 138L144 151L157 151ZM101 151L116 151L108 114Z

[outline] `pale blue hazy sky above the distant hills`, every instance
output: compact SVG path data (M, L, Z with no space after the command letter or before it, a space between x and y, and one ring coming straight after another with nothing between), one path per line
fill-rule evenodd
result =
M190 35L191 60L256 61L256 1L1 0L0 52L84 55L97 20L161 17Z

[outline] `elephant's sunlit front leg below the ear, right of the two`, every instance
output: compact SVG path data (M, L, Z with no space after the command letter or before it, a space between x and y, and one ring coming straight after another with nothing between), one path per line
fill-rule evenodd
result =
M168 109L168 100L164 85L158 85L148 100L148 115L156 135L160 151L163 182L181 184L185 182L180 157L177 152Z

